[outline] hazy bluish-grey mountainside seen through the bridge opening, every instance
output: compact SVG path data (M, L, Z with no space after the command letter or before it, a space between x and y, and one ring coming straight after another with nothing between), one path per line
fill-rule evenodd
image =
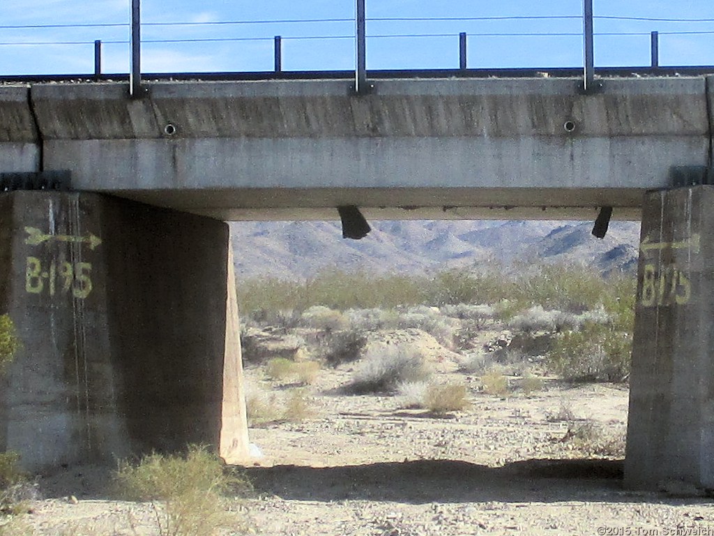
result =
M324 269L423 273L496 259L576 262L602 272L634 270L640 224L612 222L605 239L592 222L371 222L361 240L338 222L233 222L239 277L311 277Z

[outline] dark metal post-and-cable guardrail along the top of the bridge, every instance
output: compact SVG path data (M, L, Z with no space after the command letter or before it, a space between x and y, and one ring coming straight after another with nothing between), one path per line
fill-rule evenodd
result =
M543 16L445 16L445 17L372 17L366 16L365 0L355 0L355 16L353 18L323 18L323 19L285 19L285 20L224 20L224 21L148 21L141 22L141 7L140 0L129 0L131 2L131 21L127 22L109 22L109 23L83 23L83 24L17 24L17 25L1 25L0 31L11 30L50 30L50 29L129 29L130 39L94 39L94 40L76 40L62 39L54 41L0 41L0 46L69 46L69 45L84 45L93 47L94 50L94 72L83 76L94 76L100 79L105 76L103 71L103 51L106 45L129 45L131 55L131 69L129 69L129 78L131 80L132 94L139 94L141 88L141 45L142 44L178 44L178 43L222 43L222 42L245 42L245 41L272 41L273 43L273 65L271 70L273 73L280 74L284 71L284 55L283 44L286 41L305 41L305 40L353 40L355 44L355 91L357 93L368 92L370 84L367 81L371 71L367 70L366 64L366 49L368 41L376 39L400 39L400 38L422 38L435 39L443 37L458 37L458 71L466 76L467 74L474 75L474 69L469 68L469 59L467 56L468 44L470 38L482 37L540 37L540 36L580 36L583 39L583 91L596 91L597 83L595 82L595 59L594 59L594 38L596 36L646 36L649 41L650 51L650 69L660 69L660 35L714 35L714 29L698 29L693 30L675 30L675 31L605 31L595 32L594 21L610 20L610 21L639 21L639 22L678 22L678 23L714 23L714 19L665 19L656 17L636 17L636 16L617 16L617 15L598 15L593 13L592 0L583 0L582 13L575 15L543 15ZM545 20L545 21L575 21L581 20L583 24L582 32L575 31L459 31L454 33L433 32L433 33L373 33L368 34L366 31L367 23L418 23L431 21L434 23L458 23L467 24L477 21L516 21L516 20ZM141 29L161 28L177 29L177 28L196 28L196 27L233 27L233 26L259 26L266 24L281 24L281 25L300 25L300 24L354 24L355 31L353 33L338 33L338 34L311 34L311 35L272 35L272 36L162 36L160 39L141 39ZM451 71L451 69L448 69ZM553 69L548 69L553 70ZM681 70L681 69L680 69ZM268 71L268 69L266 69ZM598 69L598 73L600 69ZM1 74L0 74L1 76ZM116 76L116 75L115 75ZM289 76L289 75L288 75ZM280 76L276 76L280 77ZM7 77L6 77L7 78Z

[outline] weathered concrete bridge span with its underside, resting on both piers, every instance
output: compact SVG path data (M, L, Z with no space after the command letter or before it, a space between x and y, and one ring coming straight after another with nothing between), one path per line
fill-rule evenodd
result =
M610 205L636 219L671 167L710 158L703 76L607 79L588 96L576 79L385 79L368 96L350 84L150 82L138 100L126 84L35 84L30 101L45 170L220 219L336 217L340 204L404 219Z

